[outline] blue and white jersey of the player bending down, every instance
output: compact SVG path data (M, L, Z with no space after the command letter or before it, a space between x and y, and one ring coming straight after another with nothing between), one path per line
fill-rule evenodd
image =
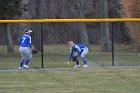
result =
M74 45L74 47L70 48L70 56L68 58L68 61L72 59L74 52L76 52L76 56L78 58L79 56L82 56L81 54L84 50L88 50L88 48L85 45L82 45L82 44ZM85 57L85 55L82 57Z

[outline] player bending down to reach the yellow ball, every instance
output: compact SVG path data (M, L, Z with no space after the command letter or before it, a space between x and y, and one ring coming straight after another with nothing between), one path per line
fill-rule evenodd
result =
M82 58L83 60L83 67L88 67L87 66L87 61L86 61L86 55L88 54L88 48L83 45L83 44L75 44L73 41L69 41L69 46L70 46L70 56L68 58L68 62L71 61L74 52L76 52L76 57L77 59L79 59L79 57ZM76 61L76 65L74 66L74 68L80 67L80 63L79 60Z

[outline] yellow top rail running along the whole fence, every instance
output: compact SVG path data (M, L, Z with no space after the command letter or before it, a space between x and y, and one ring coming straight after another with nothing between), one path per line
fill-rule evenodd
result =
M106 18L106 19L21 19L0 20L0 23L59 23L59 22L140 22L140 18Z

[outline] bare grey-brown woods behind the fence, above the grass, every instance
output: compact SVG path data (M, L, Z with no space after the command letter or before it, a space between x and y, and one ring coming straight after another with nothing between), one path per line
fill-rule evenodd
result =
M1 19L49 19L49 18L120 18L139 17L139 0L15 0L18 3L19 14L7 18L1 15ZM22 2L21 2L22 1ZM3 1L4 2L4 1ZM126 3L127 2L127 3ZM16 3L17 4L17 3ZM1 4L3 7L4 4ZM23 8L24 6L24 8ZM131 6L131 7L130 7ZM17 7L17 6L16 6ZM24 9L21 11L21 9ZM104 9L104 10L103 10ZM4 11L1 9L0 11ZM106 12L103 12L106 11ZM128 12L129 11L129 12ZM12 14L8 14L12 15ZM17 16L19 15L19 16ZM103 16L104 15L104 16ZM33 43L40 49L40 24L9 24L3 27L1 24L0 44L6 44L13 52L12 46L17 44L17 38L23 29L31 27L34 31ZM112 26L110 23L44 23L44 44L65 44L69 40L76 43L101 44L102 51L111 51L110 34ZM105 29L106 28L106 29ZM140 45L139 23L115 23L115 43ZM6 30L6 31L5 31ZM3 42L3 41L7 41Z

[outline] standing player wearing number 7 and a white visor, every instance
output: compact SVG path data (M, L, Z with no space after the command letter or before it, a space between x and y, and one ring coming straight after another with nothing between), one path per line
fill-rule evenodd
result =
M20 37L20 41L19 41L19 51L20 54L22 56L22 59L20 60L20 66L19 69L23 69L22 67L28 69L29 66L29 62L32 58L32 54L30 51L30 48L32 48L32 43L31 43L31 34L32 30L26 30L24 31L24 35L22 35ZM24 66L23 66L24 64Z

